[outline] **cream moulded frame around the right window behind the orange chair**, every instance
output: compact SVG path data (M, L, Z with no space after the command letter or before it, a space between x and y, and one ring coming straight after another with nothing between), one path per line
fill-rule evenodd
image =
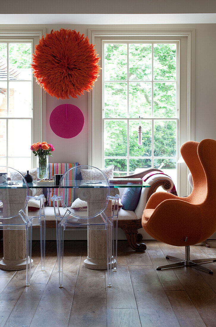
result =
M180 48L179 61L179 135L177 136L177 160L180 157L180 146L189 140L194 140L194 50L195 50L195 29L89 29L89 39L99 55L102 55L102 40L136 40L149 39L178 41ZM184 59L184 60L183 60ZM102 75L102 74L101 74ZM89 165L102 168L102 77L95 83L89 94ZM100 108L100 109L99 109ZM188 169L185 164L177 164L178 194L187 195L189 185L187 183Z

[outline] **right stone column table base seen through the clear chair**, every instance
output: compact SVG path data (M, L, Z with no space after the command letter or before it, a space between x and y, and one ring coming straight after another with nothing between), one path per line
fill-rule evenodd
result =
M117 194L118 189L110 189L111 195ZM90 190L79 189L79 198L88 203L88 215L94 214L102 209L107 189L94 188ZM107 217L112 215L112 201L109 200L105 209ZM108 239L110 239L110 228L108 228ZM113 266L113 256L111 258ZM109 250L110 262L110 250ZM115 261L114 261L115 262ZM89 269L107 269L107 231L95 226L88 229L88 256L84 260L84 267Z

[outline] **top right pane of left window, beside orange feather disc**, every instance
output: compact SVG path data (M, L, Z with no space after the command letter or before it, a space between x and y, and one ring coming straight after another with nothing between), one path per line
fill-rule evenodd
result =
M9 43L9 78L32 79L31 43Z

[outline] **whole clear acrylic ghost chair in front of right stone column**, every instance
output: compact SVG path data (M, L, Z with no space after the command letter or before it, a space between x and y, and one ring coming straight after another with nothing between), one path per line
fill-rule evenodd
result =
M78 189L78 197L88 203L88 211L75 211L67 207L67 189ZM59 287L63 287L63 244L64 231L88 229L91 231L106 231L107 234L107 272L108 287L111 287L112 266L112 216L108 218L105 214L109 196L109 182L101 170L92 166L78 166L68 169L60 180L59 196L53 196L55 202L54 211L58 222L57 254ZM59 204L64 208L64 215L60 214Z

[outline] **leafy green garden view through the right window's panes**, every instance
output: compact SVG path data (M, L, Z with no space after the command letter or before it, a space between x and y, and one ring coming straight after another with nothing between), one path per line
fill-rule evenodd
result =
M104 165L116 176L162 166L176 181L177 56L174 42L103 42Z

